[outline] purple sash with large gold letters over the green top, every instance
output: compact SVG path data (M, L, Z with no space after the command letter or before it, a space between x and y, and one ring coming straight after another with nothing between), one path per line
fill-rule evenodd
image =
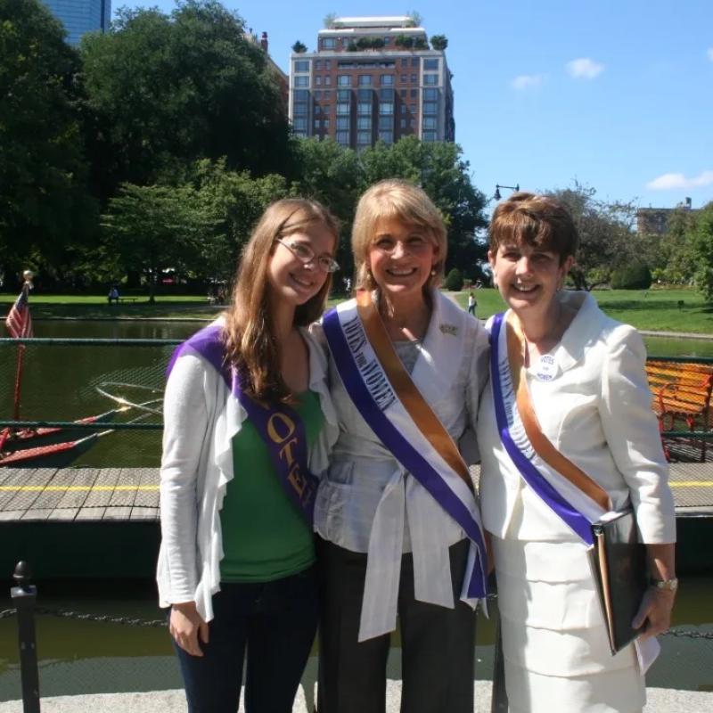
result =
M166 375L185 352L202 356L219 373L240 402L250 423L263 439L285 493L312 526L319 480L307 466L307 433L299 414L287 404L272 405L248 397L242 390L241 375L225 362L222 328L209 326L179 345L171 356Z

